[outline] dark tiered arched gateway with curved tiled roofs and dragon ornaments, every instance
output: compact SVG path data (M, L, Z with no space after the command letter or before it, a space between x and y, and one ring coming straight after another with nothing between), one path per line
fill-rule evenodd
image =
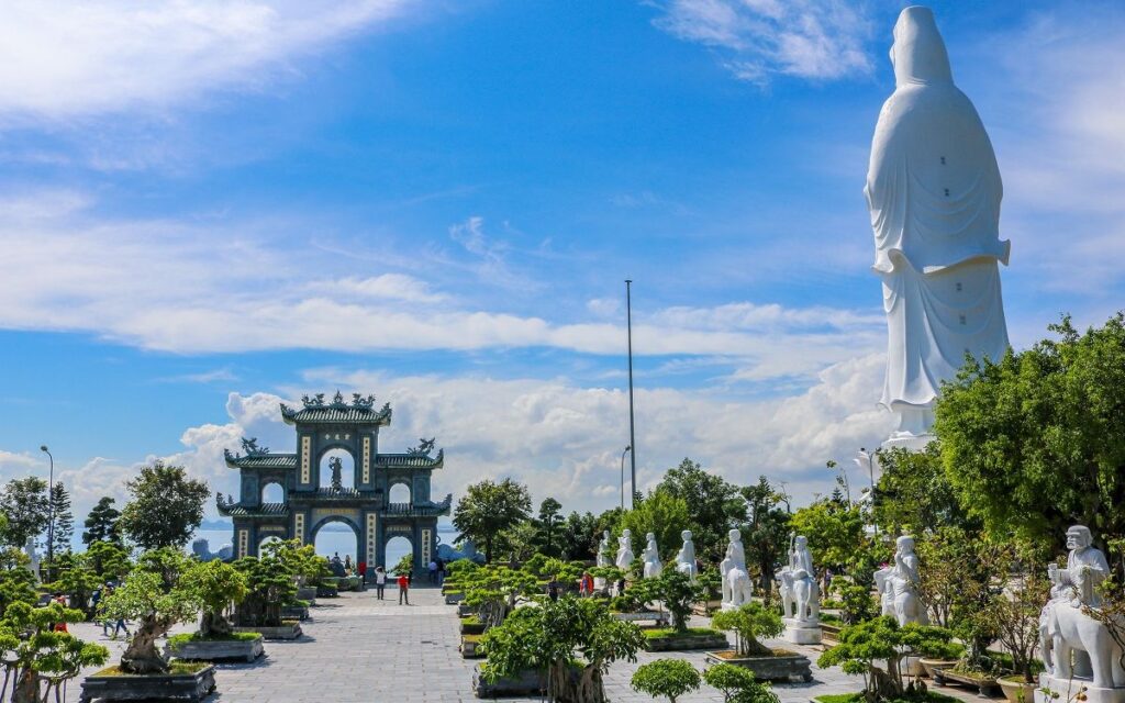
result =
M386 564L387 542L406 537L414 546L414 570L424 573L438 551L438 517L449 515L453 496L430 499L430 476L440 469L444 451L433 453L433 440L400 454L379 453L379 427L390 424L390 404L375 407L375 396L353 394L345 402L338 391L332 402L324 394L302 398L304 407L281 404L281 417L297 430L296 453L273 453L258 447L254 439L242 440L242 454L224 450L226 465L238 469L238 501L216 496L218 512L234 520L234 553L258 556L266 538L297 538L308 543L321 525L338 521L356 531L359 561L368 565L368 578L376 565ZM321 483L321 459L332 450L351 454L354 488L343 486L342 462L332 461L326 485ZM284 487L281 503L263 503L268 484ZM390 486L410 487L407 503L390 503ZM366 559L364 559L366 556Z

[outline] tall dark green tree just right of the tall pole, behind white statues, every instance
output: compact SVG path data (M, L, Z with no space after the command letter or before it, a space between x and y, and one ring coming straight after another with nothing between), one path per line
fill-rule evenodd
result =
M691 507L695 553L704 561L719 562L727 549L727 533L746 521L746 501L738 486L684 459L668 469L657 488L683 498Z

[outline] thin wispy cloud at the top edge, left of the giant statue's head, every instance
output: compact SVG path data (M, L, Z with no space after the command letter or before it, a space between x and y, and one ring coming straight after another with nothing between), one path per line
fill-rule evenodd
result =
M832 80L871 71L870 22L844 0L666 0L657 27L710 47L738 79Z

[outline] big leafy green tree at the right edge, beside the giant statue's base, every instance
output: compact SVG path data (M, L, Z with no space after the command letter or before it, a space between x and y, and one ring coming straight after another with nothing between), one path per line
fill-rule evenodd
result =
M942 388L934 431L970 515L1000 537L1044 540L1071 524L1125 538L1125 316L1084 334L968 360Z

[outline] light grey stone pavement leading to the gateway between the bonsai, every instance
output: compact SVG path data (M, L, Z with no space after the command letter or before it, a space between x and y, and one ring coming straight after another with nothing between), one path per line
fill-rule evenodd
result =
M446 605L433 588L411 591L414 605L398 605L397 591L387 589L387 600L375 592L343 593L322 598L303 624L305 636L295 642L267 642L266 656L255 664L217 666L217 693L209 701L223 703L452 703L477 701L472 695L472 669L477 661L461 659L456 607ZM694 625L705 625L696 618ZM188 631L183 627L179 631ZM74 633L110 647L116 661L124 642L104 638L101 629L80 623ZM775 645L780 642L774 642ZM813 661L809 684L778 684L774 691L783 703L807 703L813 695L846 693L862 687L862 681L838 668L819 669L819 648L794 647ZM611 701L649 701L634 692L629 679L638 666L659 658L680 658L704 667L704 652L640 652L637 663L618 663L606 676ZM88 673L92 673L88 672ZM943 690L966 701L975 696ZM76 701L72 684L68 700ZM539 699L503 699L539 701ZM683 703L722 701L721 694L704 685L680 699Z

